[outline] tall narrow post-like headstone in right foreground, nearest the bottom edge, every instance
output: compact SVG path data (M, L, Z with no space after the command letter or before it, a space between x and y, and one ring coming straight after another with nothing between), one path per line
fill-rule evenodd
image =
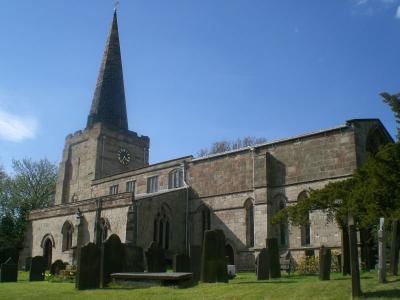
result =
M349 216L349 249L350 249L350 267L351 267L351 291L352 297L357 298L361 296L360 286L360 267L358 264L358 249L357 249L357 232L354 219Z

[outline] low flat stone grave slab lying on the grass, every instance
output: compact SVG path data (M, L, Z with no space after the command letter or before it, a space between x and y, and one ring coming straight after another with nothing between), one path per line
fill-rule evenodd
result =
M168 273L113 273L111 278L114 283L131 287L150 286L189 286L193 273L168 272Z

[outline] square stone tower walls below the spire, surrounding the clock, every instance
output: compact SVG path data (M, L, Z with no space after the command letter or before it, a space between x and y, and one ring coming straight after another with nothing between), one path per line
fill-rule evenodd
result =
M118 151L127 149L131 160L118 161ZM101 124L69 135L65 141L56 187L55 204L94 197L92 181L148 165L149 138L131 131L111 131Z

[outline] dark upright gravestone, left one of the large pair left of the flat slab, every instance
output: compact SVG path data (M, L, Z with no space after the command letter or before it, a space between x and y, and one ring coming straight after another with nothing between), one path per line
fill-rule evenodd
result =
M95 289L100 282L100 249L94 243L80 247L75 287L78 290Z

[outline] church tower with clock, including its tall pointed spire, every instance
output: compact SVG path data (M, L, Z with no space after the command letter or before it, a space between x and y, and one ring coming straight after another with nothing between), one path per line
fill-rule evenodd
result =
M150 140L128 129L117 12L114 11L86 128L68 135L55 204L92 198L93 180L148 165Z

